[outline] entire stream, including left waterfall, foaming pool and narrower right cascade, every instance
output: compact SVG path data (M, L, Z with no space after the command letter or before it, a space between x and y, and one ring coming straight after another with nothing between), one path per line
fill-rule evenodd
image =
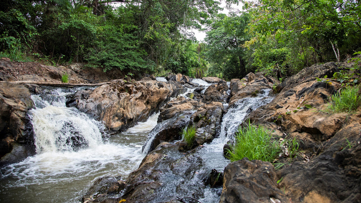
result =
M198 80L193 82L210 85ZM148 133L157 125L161 128L161 123L157 124L159 114L109 136L103 123L65 106L65 96L82 88L49 87L44 94L32 95L36 109L30 110L30 117L36 155L0 169L0 202L79 202L94 180L104 176L121 176L126 180L139 167L146 155L142 147L152 140ZM192 91L194 88L187 89L183 96ZM176 147L165 149L163 153L169 159L160 167L168 171L164 171L164 184L149 202L174 199L175 194L192 194L203 203L218 202L222 188L205 185L204 179L213 168L223 171L227 166L229 160L223 157L223 145L233 139L245 116L273 99L269 92L265 90L231 106L223 115L219 137L197 147L193 153L184 156ZM224 106L226 109L228 104ZM188 164L182 171L169 165L183 162Z

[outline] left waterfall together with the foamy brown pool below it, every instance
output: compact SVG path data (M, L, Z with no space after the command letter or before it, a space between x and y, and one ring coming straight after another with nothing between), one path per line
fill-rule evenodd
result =
M65 95L73 92L47 88L44 94L32 96L37 154L0 169L0 202L79 202L93 180L125 179L138 168L145 156L142 146L158 114L104 139L102 123L65 107Z

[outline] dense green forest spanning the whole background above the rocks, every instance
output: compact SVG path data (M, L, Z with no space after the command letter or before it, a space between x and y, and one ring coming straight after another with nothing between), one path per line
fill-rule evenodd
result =
M117 2L117 3L116 3ZM361 47L360 0L4 0L0 55L134 74L284 78ZM190 29L206 32L197 41Z

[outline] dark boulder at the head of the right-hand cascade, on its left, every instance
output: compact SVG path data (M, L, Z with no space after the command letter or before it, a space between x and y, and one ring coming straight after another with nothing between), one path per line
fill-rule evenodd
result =
M221 80L218 84L210 85L204 92L203 102L222 102L227 103L228 100L228 86L226 81Z

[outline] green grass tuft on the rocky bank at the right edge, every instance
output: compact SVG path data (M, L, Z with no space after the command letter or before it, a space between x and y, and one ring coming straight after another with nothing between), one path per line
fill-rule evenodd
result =
M357 94L358 87L347 86L339 93L331 96L328 107L333 112L349 112L361 105L361 98Z

